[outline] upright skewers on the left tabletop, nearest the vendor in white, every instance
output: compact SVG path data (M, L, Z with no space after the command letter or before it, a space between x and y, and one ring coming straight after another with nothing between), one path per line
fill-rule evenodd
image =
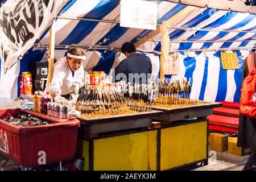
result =
M154 84L125 84L86 86L77 98L76 110L90 114L122 114L131 111L151 111L155 98Z

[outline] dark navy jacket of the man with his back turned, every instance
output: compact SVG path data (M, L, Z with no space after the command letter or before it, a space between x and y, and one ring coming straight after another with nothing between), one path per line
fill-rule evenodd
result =
M127 80L119 79L119 73L123 73ZM143 74L144 73L144 74ZM127 81L140 84L146 84L147 80L151 77L152 64L148 56L134 53L121 61L117 68L115 68L114 82ZM114 79L113 78L113 79Z

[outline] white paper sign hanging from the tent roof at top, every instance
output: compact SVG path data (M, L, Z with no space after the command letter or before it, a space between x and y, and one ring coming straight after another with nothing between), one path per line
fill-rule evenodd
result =
M158 3L142 0L121 1L121 27L156 30Z

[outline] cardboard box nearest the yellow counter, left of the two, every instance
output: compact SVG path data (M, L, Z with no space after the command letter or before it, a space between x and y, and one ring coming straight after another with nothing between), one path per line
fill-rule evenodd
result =
M228 151L228 135L211 133L209 137L210 150L225 152Z

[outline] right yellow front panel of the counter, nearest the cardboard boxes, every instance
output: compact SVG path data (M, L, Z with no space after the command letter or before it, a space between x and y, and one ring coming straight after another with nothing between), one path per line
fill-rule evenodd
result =
M207 121L162 129L160 170L207 159L207 129Z

